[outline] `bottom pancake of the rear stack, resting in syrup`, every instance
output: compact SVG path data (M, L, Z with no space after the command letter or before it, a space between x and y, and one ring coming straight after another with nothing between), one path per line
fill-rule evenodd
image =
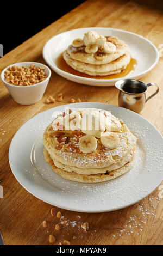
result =
M125 54L123 54L123 56L120 56L119 58L113 60L110 63L99 65L93 65L82 61L74 60L70 57L67 51L63 53L63 57L66 63L71 66L71 68L91 76L106 76L120 73L122 70L126 69L127 65L130 63L131 60L129 52L126 52Z

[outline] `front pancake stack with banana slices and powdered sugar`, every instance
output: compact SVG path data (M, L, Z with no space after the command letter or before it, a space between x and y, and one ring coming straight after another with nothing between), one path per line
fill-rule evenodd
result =
M102 119L96 119L98 113ZM84 117L92 120L91 129L87 124L83 127ZM71 124L68 128L66 120ZM46 162L67 180L103 182L134 166L136 137L122 121L101 109L71 109L58 115L46 128L43 144Z

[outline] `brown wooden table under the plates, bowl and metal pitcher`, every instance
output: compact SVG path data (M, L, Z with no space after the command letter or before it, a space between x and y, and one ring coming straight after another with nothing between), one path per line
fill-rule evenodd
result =
M156 2L156 1L155 1ZM42 48L52 36L73 28L112 27L145 36L156 47L163 43L163 13L159 8L146 7L136 1L90 0L79 5L47 28L0 59L1 71L12 63L35 61L45 63ZM145 83L155 82L160 87L158 95L149 100L141 115L151 121L163 134L163 57L142 78ZM151 93L151 88L150 88ZM46 105L48 95L64 95L64 101ZM85 214L60 209L62 215L77 226L54 230L59 219L52 217L51 205L32 196L16 181L11 172L8 150L15 132L31 117L48 108L64 105L73 97L84 102L104 102L118 105L118 90L114 87L91 87L77 84L55 74L48 84L43 99L30 106L18 105L0 82L0 179L4 198L0 199L0 230L6 245L48 245L48 235L56 237L56 244L66 239L71 245L162 245L163 201L158 200L158 188L140 203L126 209L100 214ZM58 209L59 210L59 209ZM144 214L143 211L149 211ZM147 218L148 217L148 218ZM42 222L48 221L43 228ZM79 229L80 222L89 222L87 232ZM136 227L137 226L137 227Z

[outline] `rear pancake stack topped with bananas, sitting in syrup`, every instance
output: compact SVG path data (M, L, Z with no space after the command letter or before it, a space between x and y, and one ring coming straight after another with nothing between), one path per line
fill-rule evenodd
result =
M85 33L83 39L73 40L63 57L71 68L91 76L120 73L131 60L124 41L95 31Z

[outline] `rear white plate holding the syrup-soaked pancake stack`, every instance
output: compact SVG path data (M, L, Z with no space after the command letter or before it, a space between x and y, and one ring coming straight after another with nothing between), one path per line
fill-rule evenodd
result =
M140 78L147 74L151 69L154 68L159 60L159 52L157 48L152 44L151 41L144 38L141 35L131 33L129 31L124 31L122 29L116 28L78 28L72 29L71 31L66 31L64 33L55 35L53 38L47 41L43 47L43 58L46 63L60 76L67 78L68 80L87 84L90 86L114 86L118 79L95 79L80 77L68 72L61 70L57 66L58 56L66 50L68 45L72 44L73 39L83 38L84 33L87 31L94 30L101 35L112 35L117 36L126 42L129 47L131 56L137 60L137 66L134 72L126 76L127 78Z

